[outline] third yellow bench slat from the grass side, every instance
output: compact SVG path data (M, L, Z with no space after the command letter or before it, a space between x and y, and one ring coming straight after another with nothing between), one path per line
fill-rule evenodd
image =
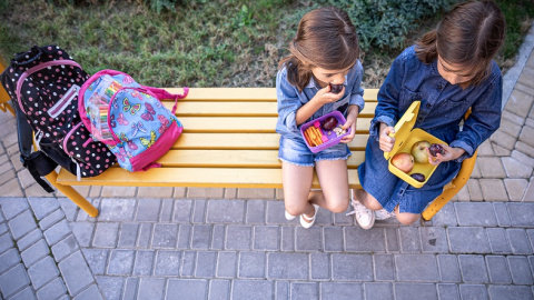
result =
M184 132L275 132L276 118L268 117L181 117ZM367 133L370 118L358 118L356 133Z

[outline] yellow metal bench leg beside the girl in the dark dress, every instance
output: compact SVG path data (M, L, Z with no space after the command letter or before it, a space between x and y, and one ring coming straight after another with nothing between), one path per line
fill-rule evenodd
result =
M462 162L462 168L459 169L458 174L453 179L452 187L445 189L439 197L437 197L426 209L423 211L423 220L429 221L456 193L458 193L462 188L464 188L467 180L471 178L471 173L475 168L476 154L478 150L475 151L473 157L464 160Z

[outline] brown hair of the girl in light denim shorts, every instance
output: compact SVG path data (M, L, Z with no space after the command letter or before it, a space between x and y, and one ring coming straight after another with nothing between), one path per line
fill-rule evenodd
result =
M358 36L348 14L335 7L306 13L298 23L297 34L289 42L290 54L278 68L287 68L287 80L299 91L312 79L314 67L343 70L359 58Z

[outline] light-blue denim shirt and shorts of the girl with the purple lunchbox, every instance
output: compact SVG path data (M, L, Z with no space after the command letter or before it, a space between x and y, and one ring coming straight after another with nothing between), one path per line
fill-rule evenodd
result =
M364 70L358 60L345 76L345 94L334 103L324 104L306 122L334 110L340 111L346 117L348 107L352 104L358 106L359 111L362 111L364 109L364 89L360 86L363 73ZM313 153L300 134L301 124L297 126L295 119L297 110L312 100L319 89L322 88L312 77L309 83L300 92L287 80L286 68L278 71L276 76L276 98L278 101L276 132L280 133L278 158L281 161L301 167L313 167L314 162L318 160L347 159L350 156L350 150L348 150L346 143L338 143L318 153Z

